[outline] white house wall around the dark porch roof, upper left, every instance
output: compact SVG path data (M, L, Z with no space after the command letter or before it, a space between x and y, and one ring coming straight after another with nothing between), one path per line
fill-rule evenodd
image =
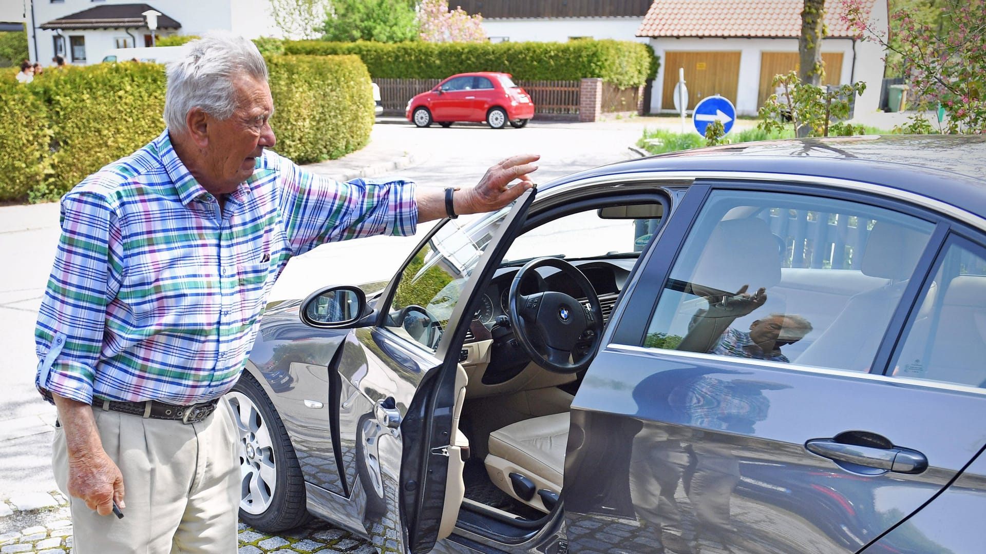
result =
M0 0L9 2L10 0ZM21 2L22 0L15 0ZM30 2L30 0L28 0ZM51 3L48 0L35 0L35 22L37 26L59 19L83 10L88 10L96 6L106 4L132 4L133 0L104 0L94 3L92 0L64 0L64 2ZM158 35L202 35L211 30L224 30L255 38L261 35L274 35L273 18L269 13L269 2L266 0L149 0L149 5L159 12L175 19L181 24L181 29L176 32L171 30L158 30ZM29 5L30 8L30 5ZM31 19L29 9L28 19ZM29 21L29 28L32 27ZM36 27L36 26L35 26ZM144 45L144 35L150 35L150 30L146 27L141 29L128 30L73 30L62 31L65 35L65 47L68 49L68 35L84 35L86 37L86 59L87 63L99 63L106 50L113 48L115 36L134 35L136 46ZM37 52L35 52L35 41L31 29L28 33L28 44L31 50L31 59L40 61L42 64L49 64L51 57L54 56L52 45L53 31L35 29L37 34ZM67 52L66 52L67 53ZM69 61L70 56L66 55L65 60Z

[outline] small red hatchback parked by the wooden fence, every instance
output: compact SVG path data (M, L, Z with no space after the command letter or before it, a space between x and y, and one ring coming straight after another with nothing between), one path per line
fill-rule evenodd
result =
M448 127L455 121L486 121L494 129L508 122L521 128L534 116L534 104L509 73L459 73L407 103L408 121L427 127L432 121Z

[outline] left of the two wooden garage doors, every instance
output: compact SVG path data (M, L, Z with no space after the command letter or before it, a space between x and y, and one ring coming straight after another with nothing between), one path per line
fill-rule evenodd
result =
M661 106L673 109L678 68L684 68L688 107L705 97L719 95L737 103L740 83L740 52L665 52L665 85Z

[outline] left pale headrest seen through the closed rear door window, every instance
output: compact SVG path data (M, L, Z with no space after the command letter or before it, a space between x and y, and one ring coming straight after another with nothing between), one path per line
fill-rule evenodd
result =
M781 253L762 219L719 222L695 264L691 282L726 292L749 285L749 294L781 281Z

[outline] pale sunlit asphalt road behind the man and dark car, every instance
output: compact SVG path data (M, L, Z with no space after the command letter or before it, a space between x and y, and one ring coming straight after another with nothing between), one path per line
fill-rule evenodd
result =
M415 128L399 120L375 125L370 146L314 171L338 178L389 161L411 165L389 174L423 186L468 186L503 158L541 156L536 182L633 157L628 146L645 127L676 126L671 118L629 118L597 123L537 123L492 130L479 124ZM392 168L392 166L391 166ZM422 230L419 230L419 233ZM34 387L34 324L58 240L57 203L0 207L0 500L55 490L50 470L54 409ZM387 279L417 242L371 238L319 246L291 261L269 300L305 296L318 286ZM0 517L0 533L23 518Z

